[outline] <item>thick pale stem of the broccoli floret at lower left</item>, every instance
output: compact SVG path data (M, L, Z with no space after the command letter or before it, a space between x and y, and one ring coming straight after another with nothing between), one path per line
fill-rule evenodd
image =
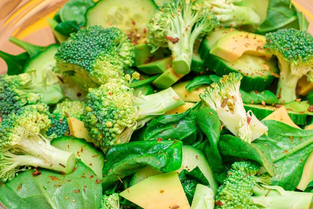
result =
M23 138L17 145L18 151L33 155L35 161L25 161L27 165L40 166L64 173L72 172L76 164L73 152L60 150L52 145L50 141L41 134Z

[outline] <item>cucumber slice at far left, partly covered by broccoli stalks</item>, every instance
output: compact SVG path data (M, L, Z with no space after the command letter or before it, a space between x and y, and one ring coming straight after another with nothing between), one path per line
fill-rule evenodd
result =
M47 85L58 83L56 73L52 71L52 68L55 65L54 54L57 51L57 47L56 44L49 45L46 49L31 57L25 64L25 72L30 72L33 69L36 69L35 73L37 81L41 81L42 75L45 73L47 75Z

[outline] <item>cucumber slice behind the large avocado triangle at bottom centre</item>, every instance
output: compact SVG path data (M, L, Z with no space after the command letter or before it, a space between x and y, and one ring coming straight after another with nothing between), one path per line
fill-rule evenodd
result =
M193 146L183 145L182 146L182 162L181 167L176 170L178 173L186 169L188 171L192 170L198 166L202 171L203 175L207 178L210 188L216 193L217 183L213 178L213 173L208 163L206 156L199 149L194 148ZM152 176L160 174L161 172L155 170L150 166L145 166L141 170L135 172L130 179L130 186L140 182L141 180Z

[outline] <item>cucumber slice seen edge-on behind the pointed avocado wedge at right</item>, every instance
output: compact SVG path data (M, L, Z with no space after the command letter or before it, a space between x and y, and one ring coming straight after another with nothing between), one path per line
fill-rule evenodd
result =
M278 109L275 106L263 106L261 104L244 104L244 109L246 111L251 110L257 119L261 120L265 118L267 115ZM288 115L292 119L292 121L297 125L304 125L306 121L307 114L299 113L292 111L290 109L287 110Z

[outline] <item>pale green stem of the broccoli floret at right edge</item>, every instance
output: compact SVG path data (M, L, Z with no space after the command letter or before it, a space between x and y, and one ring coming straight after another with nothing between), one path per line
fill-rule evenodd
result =
M279 62L279 80L277 86L276 95L278 97L279 103L287 103L290 101L294 101L296 99L296 85L298 80L300 79L299 76L291 74L289 70L284 70L289 68L289 66L283 66L286 63Z

